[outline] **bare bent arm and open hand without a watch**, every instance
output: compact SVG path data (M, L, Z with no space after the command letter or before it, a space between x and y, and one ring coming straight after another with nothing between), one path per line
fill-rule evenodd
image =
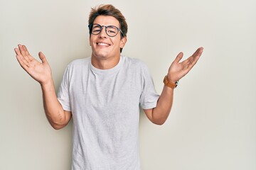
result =
M39 57L42 62L35 60L28 52L25 45L18 45L14 49L16 58L21 67L36 81L41 84L43 92L43 108L50 125L56 130L68 125L71 118L70 111L64 111L55 93L50 65L42 52Z

